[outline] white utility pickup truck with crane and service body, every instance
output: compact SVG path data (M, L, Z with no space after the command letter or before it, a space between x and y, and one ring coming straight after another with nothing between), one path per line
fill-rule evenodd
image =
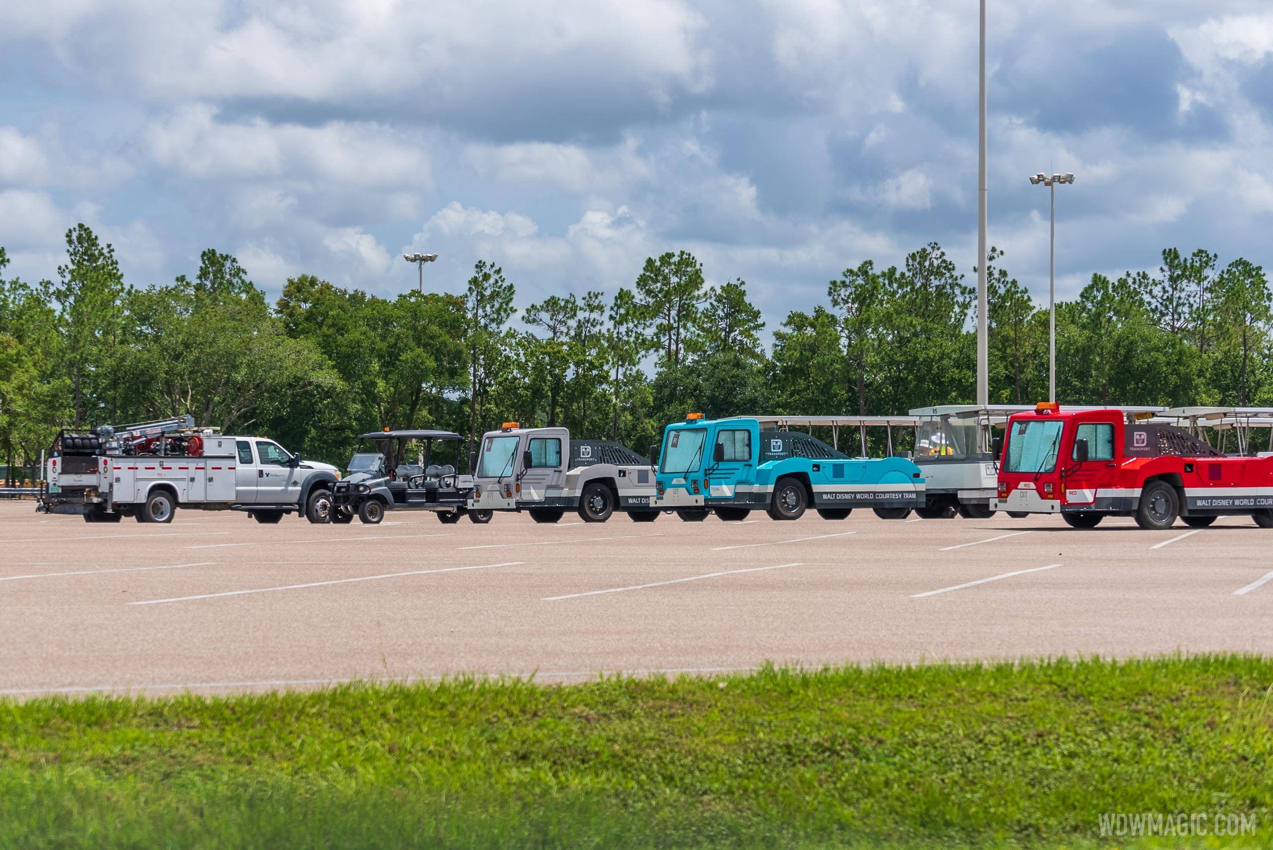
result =
M260 523L299 512L340 520L331 491L336 467L302 461L262 436L196 429L191 416L92 431L53 442L39 510L85 522L172 522L177 508L243 510Z

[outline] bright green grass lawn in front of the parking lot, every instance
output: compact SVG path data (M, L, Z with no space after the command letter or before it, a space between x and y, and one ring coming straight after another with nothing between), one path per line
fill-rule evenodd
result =
M1198 657L9 701L0 847L1111 846L1120 812L1268 846L1270 686Z

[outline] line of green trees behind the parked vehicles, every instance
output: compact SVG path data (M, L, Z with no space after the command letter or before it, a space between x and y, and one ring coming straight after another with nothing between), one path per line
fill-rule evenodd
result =
M1048 310L992 249L990 401L1048 394ZM975 298L937 244L900 266L863 261L792 310L765 345L747 282L707 284L689 252L645 260L633 285L514 308L514 282L479 261L462 295L381 298L313 275L272 304L233 256L192 277L123 280L80 224L56 279L4 277L0 461L29 464L61 426L192 414L341 463L359 433L505 420L563 425L638 449L687 411L899 414L975 397ZM975 270L974 270L975 272ZM1156 274L1094 275L1057 307L1063 403L1273 403L1270 293L1260 266L1162 252Z

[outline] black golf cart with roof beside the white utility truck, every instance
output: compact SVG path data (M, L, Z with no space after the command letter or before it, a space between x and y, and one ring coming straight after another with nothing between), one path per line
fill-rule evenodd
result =
M432 510L444 523L489 523L490 510L468 510L474 480L458 475L454 461L463 440L452 431L372 431L358 435L349 475L332 490L332 522L356 514L364 523L384 519L386 510Z

